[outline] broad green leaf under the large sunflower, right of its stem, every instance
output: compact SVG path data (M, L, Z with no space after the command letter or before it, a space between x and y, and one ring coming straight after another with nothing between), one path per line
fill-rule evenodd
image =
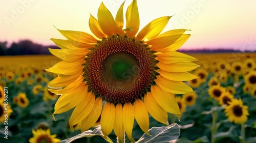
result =
M143 134L136 143L176 142L176 140L180 136L180 128L176 123L168 127L153 127L150 130L148 130L148 132L150 133L150 135Z

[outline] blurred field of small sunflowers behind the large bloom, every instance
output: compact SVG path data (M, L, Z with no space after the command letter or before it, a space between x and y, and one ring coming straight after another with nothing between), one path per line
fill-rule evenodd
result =
M194 92L176 95L181 122L168 115L170 123L179 124L177 142L256 142L256 53L190 55L202 67L191 72L198 78L186 82ZM58 142L80 133L79 127L69 128L72 110L56 115L57 121L52 117L59 96L47 84L57 75L44 69L60 59L0 56L0 61L0 142ZM150 118L150 127L159 126ZM134 139L142 134L135 123ZM113 132L109 137L115 140ZM81 141L105 142L96 136L74 142Z

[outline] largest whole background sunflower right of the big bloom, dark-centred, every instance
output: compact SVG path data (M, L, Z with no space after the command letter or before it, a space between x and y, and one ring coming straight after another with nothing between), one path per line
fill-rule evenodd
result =
M225 107L226 116L230 122L244 124L249 115L247 108L248 106L244 106L241 99L233 99L229 102L229 105Z

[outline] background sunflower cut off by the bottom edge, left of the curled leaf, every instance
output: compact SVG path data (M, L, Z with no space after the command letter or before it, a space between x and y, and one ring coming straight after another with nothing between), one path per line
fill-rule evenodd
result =
M57 143L60 141L60 139L55 138L57 135L51 135L50 129L42 130L42 129L36 129L32 130L33 137L29 139L30 143Z

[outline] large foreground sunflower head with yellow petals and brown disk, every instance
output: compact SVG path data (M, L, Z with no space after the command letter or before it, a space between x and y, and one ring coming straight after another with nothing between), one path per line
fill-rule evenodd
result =
M89 26L98 39L83 32L58 30L68 40L52 39L61 49L49 50L63 61L47 69L58 74L48 86L51 92L61 94L53 115L75 107L69 120L71 129L80 123L82 131L88 130L101 116L105 136L114 129L121 140L125 131L135 141L134 119L148 133L148 113L166 125L166 112L180 115L174 94L193 91L182 81L196 78L188 71L198 65L191 63L195 58L176 51L189 38L183 34L187 30L160 34L171 16L151 21L138 33L140 20L134 0L127 8L123 30L123 5L115 19L103 3L98 19L91 15ZM103 109L102 101L106 102Z

